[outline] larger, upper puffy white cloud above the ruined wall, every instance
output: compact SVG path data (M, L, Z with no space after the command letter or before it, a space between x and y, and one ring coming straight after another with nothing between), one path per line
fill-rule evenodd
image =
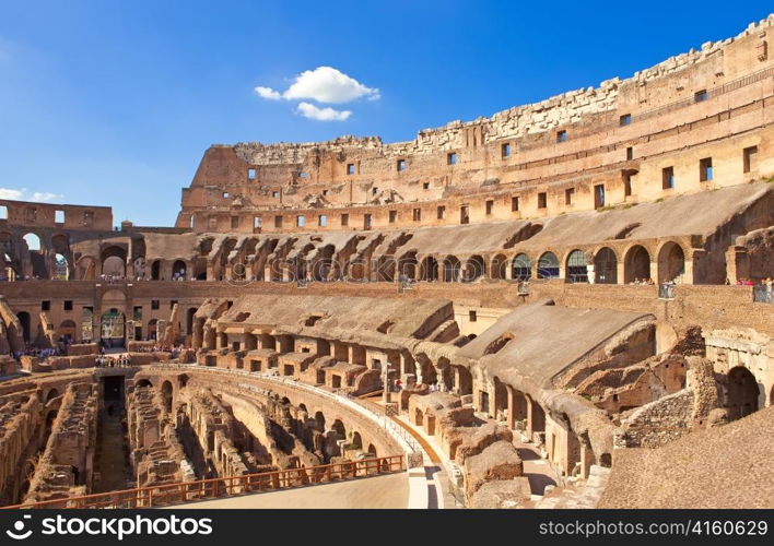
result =
M283 93L271 87L256 87L256 93L269 99L310 98L318 103L332 104L349 103L362 97L370 100L379 98L379 90L367 87L332 67L317 67L315 70L302 72Z

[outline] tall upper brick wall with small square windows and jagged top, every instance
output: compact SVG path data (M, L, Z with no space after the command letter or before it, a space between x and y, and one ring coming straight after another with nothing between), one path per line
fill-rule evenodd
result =
M362 227L371 215L373 227L406 227L423 202L432 203L424 223L454 224L462 205L471 222L491 222L598 209L597 186L605 187L605 205L631 204L771 176L772 21L633 78L422 130L410 142L342 136L213 146L183 192L177 225L308 232ZM711 183L699 173L706 157ZM673 168L675 188L664 186L666 167ZM435 205L447 214L436 215ZM292 212L277 221L283 209Z

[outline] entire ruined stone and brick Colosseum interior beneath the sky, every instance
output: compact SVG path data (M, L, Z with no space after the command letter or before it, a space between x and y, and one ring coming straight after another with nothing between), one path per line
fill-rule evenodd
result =
M773 48L0 201L1 503L773 508Z

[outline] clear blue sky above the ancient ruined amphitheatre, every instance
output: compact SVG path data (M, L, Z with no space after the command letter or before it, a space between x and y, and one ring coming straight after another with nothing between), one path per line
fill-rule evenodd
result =
M0 195L172 225L210 144L411 140L628 78L769 11L762 1L0 0ZM356 81L361 96L315 100L326 81L314 78L289 98L255 91L275 97L318 67ZM350 84L324 98L351 98ZM347 119L303 115L322 108Z

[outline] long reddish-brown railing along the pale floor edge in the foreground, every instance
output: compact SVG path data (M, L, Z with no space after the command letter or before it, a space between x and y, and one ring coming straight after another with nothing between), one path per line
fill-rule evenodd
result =
M180 482L98 492L2 508L153 508L376 476L403 470L403 455L389 455L318 466L245 474L242 476L198 479L196 482Z

